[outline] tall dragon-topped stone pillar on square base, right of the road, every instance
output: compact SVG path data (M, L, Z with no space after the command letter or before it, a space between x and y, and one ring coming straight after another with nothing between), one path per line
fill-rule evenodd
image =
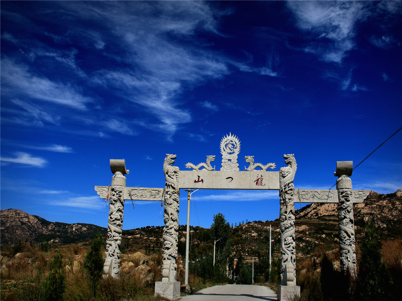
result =
M293 192L297 164L294 155L283 155L287 167L279 169L279 230L281 233L281 285L278 300L293 300L300 295L296 285L295 206Z

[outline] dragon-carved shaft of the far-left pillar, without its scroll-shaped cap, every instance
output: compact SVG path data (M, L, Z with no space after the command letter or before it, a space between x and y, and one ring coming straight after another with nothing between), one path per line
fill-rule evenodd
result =
M114 175L113 177L124 177ZM120 273L120 244L123 227L124 187L111 186L110 188L109 221L107 223L106 258L103 266L105 277L111 275L119 278Z

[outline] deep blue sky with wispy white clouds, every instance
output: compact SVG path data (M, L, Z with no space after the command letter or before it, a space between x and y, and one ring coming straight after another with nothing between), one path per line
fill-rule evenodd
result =
M107 226L94 191L109 159L127 186L164 187L235 134L244 156L328 189L401 125L400 1L1 1L1 209ZM402 189L402 131L353 171L354 189ZM278 191L203 190L191 224L273 220ZM180 224L187 193L181 191ZM298 208L299 205L296 205ZM163 225L127 201L124 229Z

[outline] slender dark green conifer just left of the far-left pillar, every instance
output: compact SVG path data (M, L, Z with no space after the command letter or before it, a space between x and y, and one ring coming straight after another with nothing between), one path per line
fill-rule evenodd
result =
M102 277L103 256L102 256L103 239L100 232L96 233L95 239L92 241L88 252L86 252L84 260L84 270L88 277L91 295L96 295L96 288Z

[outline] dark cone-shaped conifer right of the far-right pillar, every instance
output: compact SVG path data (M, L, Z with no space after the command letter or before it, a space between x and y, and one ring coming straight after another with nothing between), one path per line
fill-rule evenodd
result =
M390 300L390 276L382 260L381 241L374 219L366 224L360 250L357 297L364 301Z

